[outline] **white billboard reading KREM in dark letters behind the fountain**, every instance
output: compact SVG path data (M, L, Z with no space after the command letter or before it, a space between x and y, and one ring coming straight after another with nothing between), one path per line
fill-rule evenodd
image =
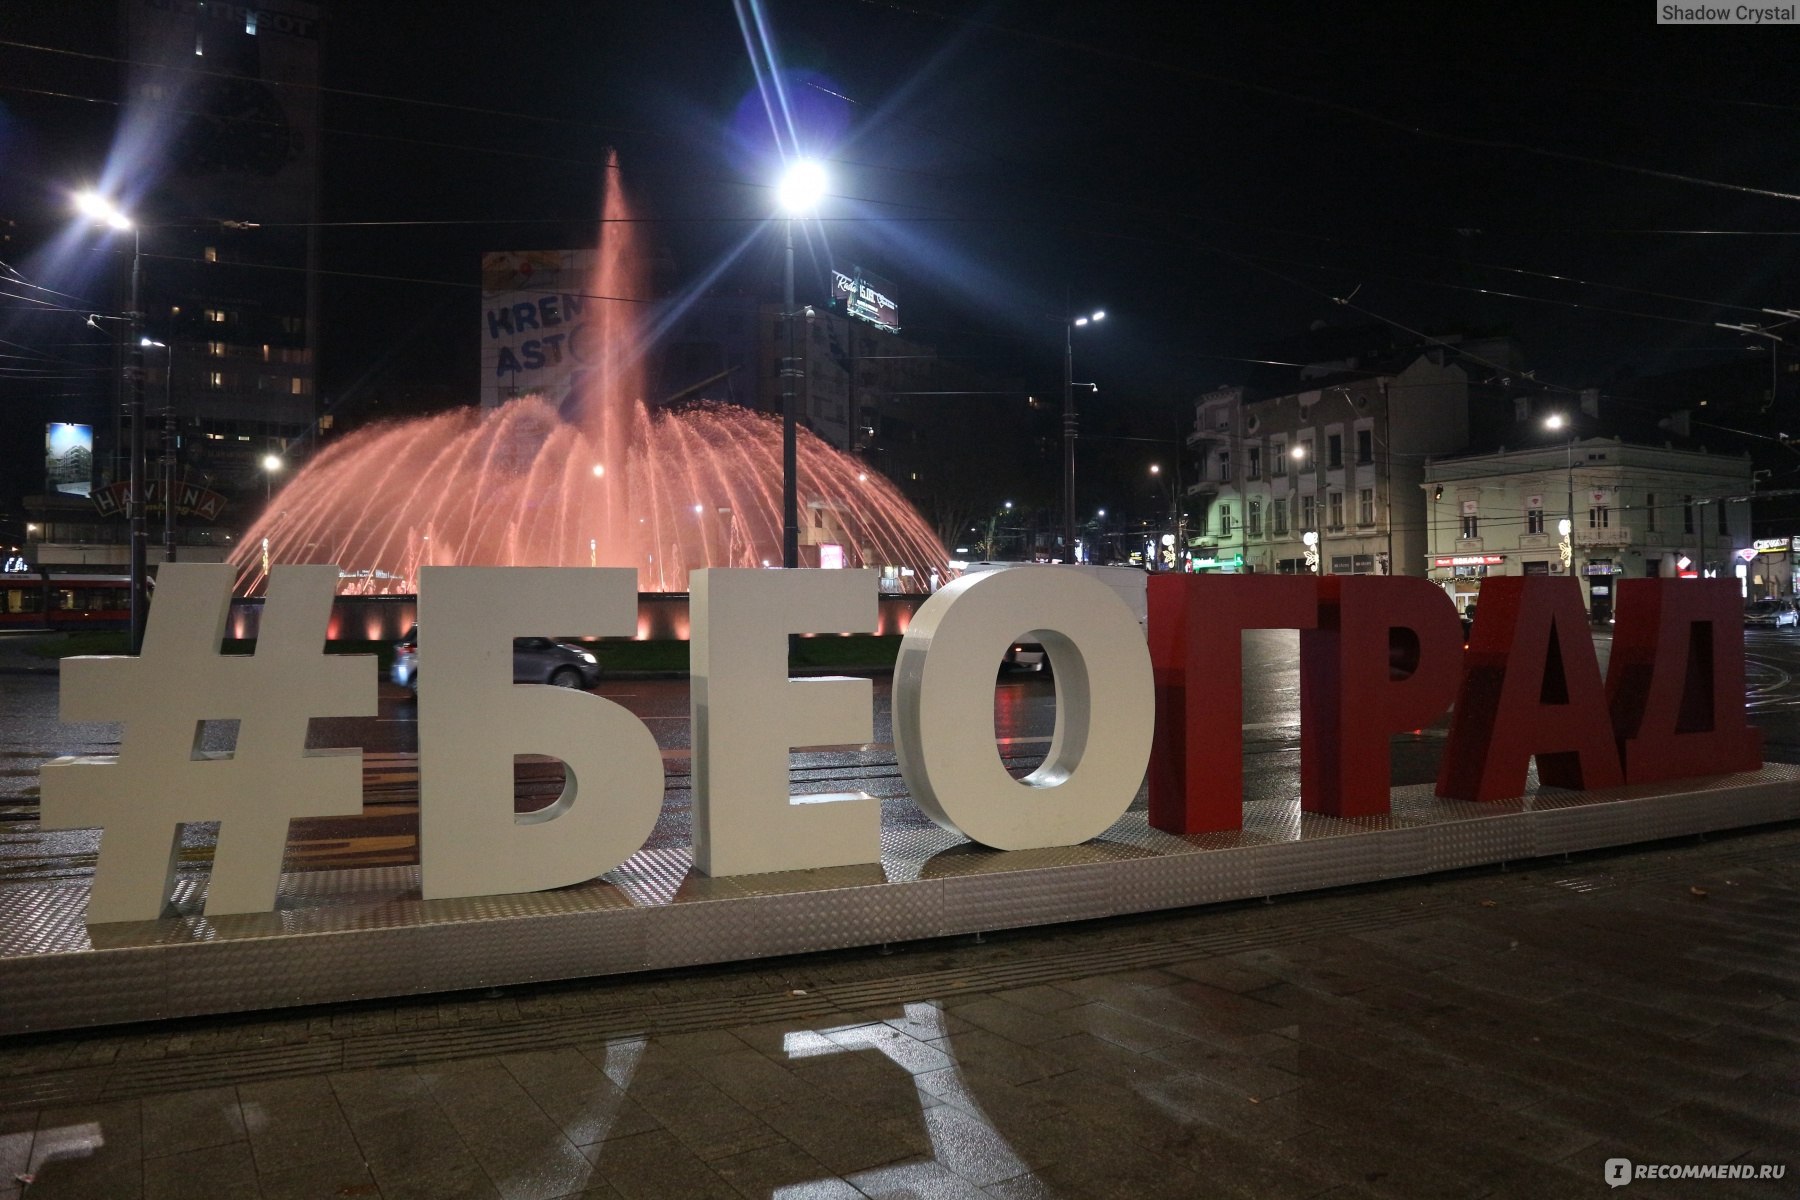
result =
M542 396L562 407L592 365L596 309L587 302L592 250L481 255L481 407Z

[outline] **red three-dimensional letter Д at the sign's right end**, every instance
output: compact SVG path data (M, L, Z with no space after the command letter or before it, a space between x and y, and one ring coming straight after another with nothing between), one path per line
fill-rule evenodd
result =
M1735 579L1622 579L1606 703L1625 783L1762 766L1744 718L1744 626Z

